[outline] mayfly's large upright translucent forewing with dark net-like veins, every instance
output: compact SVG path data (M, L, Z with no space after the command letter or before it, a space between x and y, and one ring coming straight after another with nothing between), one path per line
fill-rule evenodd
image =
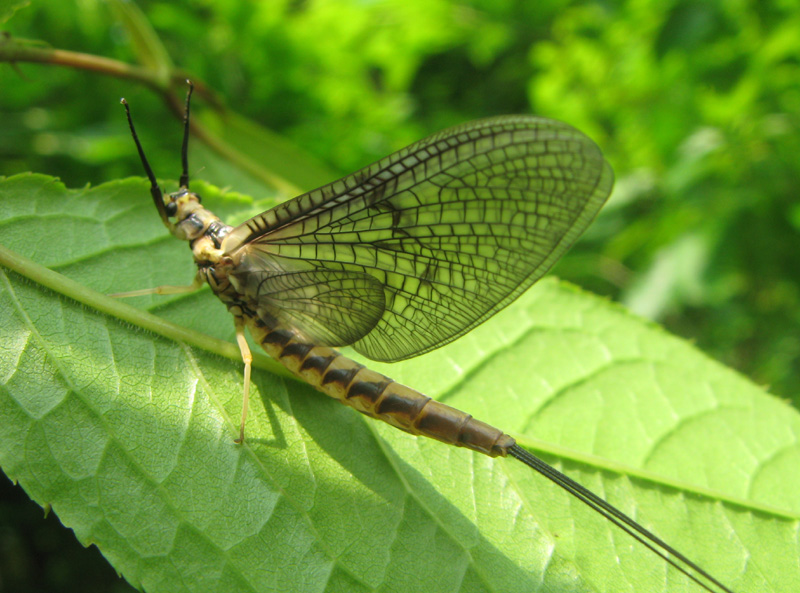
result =
M260 275L262 288L250 291L259 302L269 278L324 272L306 297L350 278L336 306L362 314L315 316L284 295L269 297L269 315L330 346L402 360L458 338L519 296L575 242L612 185L611 167L578 130L533 116L490 118L255 216L222 248L239 282L254 285L248 276ZM332 327L339 323L347 329Z

